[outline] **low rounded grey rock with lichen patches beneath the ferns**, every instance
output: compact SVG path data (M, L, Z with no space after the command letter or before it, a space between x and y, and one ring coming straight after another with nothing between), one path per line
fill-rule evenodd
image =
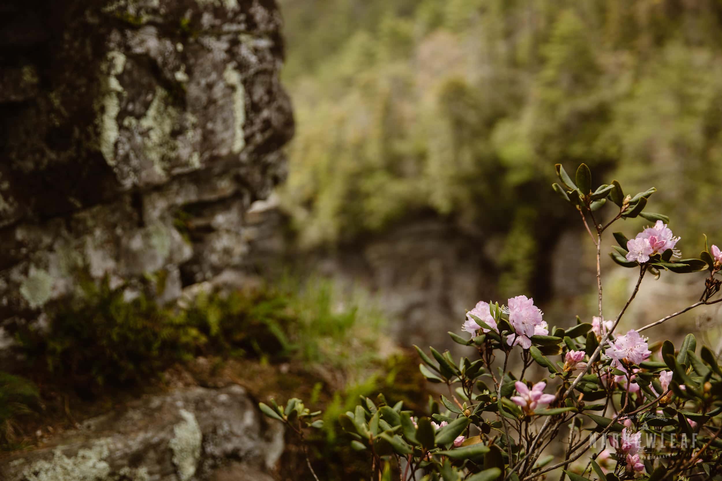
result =
M4 462L6 481L271 480L283 431L239 386L147 397Z

